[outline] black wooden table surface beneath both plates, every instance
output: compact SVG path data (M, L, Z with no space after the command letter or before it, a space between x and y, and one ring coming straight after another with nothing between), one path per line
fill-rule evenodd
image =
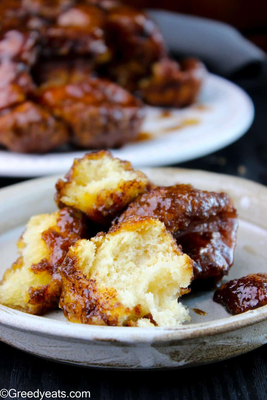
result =
M179 166L243 176L267 185L267 67L257 78L239 77L235 82L254 101L253 126L231 146ZM0 186L19 181L1 178ZM64 390L67 394L71 390L90 390L90 398L98 400L267 398L267 345L217 364L151 372L116 372L56 364L2 343L0 351L0 389Z

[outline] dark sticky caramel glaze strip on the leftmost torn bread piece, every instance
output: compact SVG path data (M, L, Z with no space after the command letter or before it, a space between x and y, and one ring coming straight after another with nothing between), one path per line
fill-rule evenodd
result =
M65 207L59 211L59 218L55 227L42 233L49 252L49 259L43 259L38 264L31 266L32 271L38 274L43 271L49 272L51 281L45 286L30 288L29 304L40 307L39 314L58 306L62 284L58 268L64 261L68 248L78 239L86 236L85 217L82 213Z

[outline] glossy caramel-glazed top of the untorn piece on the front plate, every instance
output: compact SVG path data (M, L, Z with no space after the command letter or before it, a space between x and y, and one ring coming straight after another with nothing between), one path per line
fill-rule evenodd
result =
M206 221L222 211L233 210L226 193L198 190L191 185L157 187L139 196L118 218L125 221L129 216L151 216L164 222L175 234L187 229L191 222Z

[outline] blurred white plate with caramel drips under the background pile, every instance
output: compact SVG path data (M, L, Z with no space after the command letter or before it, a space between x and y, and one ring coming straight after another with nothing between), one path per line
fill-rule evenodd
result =
M112 150L134 166L175 164L204 156L237 140L251 125L254 107L249 96L235 84L209 74L198 104L171 111L162 117L162 109L147 107L141 129L150 140L130 143ZM70 168L74 157L86 151L18 154L0 151L0 175L41 176L62 173Z

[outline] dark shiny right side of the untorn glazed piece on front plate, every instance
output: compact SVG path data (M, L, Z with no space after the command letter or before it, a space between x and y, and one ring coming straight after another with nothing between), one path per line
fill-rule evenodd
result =
M193 259L193 288L203 285L196 280L207 280L208 288L228 274L233 264L237 226L237 213L233 210L205 222L193 222L187 230L176 232L177 243Z

